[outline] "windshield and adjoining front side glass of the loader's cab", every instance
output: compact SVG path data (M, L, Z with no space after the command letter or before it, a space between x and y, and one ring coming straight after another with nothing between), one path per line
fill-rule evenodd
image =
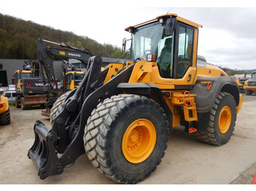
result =
M173 34L166 35L162 23L155 22L136 28L132 33L131 58L146 60L146 55L156 54L159 73L162 77L173 77Z

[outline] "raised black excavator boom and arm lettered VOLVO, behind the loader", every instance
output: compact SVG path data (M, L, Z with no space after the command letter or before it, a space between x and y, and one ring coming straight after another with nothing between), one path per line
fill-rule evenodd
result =
M54 44L54 47L48 44ZM58 82L56 79L54 67L53 67L53 56L61 56L64 58L73 58L85 66L87 66L89 62L89 58L92 56L92 53L88 49L79 49L77 47L69 46L68 44L62 42L61 44L56 42L50 42L45 39L38 39L37 41L37 60L39 63L39 68L42 74L42 84L44 86L44 91L47 95L47 99L45 101L46 109L42 110L42 115L46 117L50 117L50 109L52 108L53 104L56 102L57 98L59 98L58 92ZM61 71L62 71L62 84L64 84L65 73L69 71L80 71L77 67L72 66L72 64L68 63L67 61L62 61L61 63ZM80 74L79 74L80 75ZM69 82L69 87L71 83L74 81ZM50 86L50 88L49 88ZM74 85L75 87L75 85ZM74 87L72 89L74 89ZM69 88L70 90L70 88ZM61 93L64 90L61 91Z

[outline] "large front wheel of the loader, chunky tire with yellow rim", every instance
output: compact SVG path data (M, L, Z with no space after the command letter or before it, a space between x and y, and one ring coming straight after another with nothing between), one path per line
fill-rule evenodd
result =
M168 122L162 107L139 95L113 95L91 113L84 134L91 163L115 182L135 184L165 155Z

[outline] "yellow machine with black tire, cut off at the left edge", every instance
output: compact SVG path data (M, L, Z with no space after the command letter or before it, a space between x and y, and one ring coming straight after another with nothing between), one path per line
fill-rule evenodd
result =
M9 125L11 122L8 98L0 95L0 125Z

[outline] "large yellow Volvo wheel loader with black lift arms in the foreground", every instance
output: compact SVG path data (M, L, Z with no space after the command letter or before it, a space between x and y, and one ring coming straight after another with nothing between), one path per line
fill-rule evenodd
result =
M232 136L242 96L236 79L197 58L201 25L165 14L129 26L130 61L92 56L79 87L62 98L52 127L37 120L28 156L40 179L86 153L115 182L143 181L161 163L173 128L220 146ZM126 40L123 42L126 47Z

